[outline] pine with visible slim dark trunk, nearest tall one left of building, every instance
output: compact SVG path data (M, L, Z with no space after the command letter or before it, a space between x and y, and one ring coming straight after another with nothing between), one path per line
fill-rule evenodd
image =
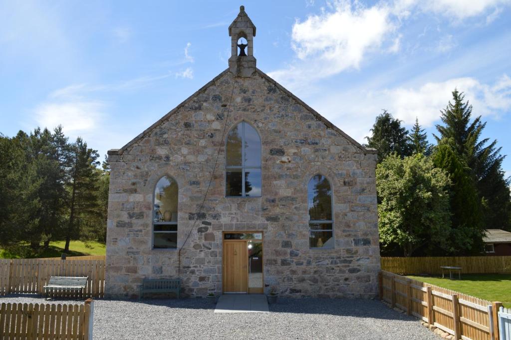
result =
M98 210L98 151L87 147L87 143L78 138L70 148L71 167L69 168L69 217L65 230L64 251L69 251L72 238L79 238L80 225L86 225L87 215Z

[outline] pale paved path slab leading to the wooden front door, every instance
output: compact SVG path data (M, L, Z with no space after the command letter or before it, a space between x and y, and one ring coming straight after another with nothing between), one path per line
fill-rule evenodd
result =
M218 299L215 313L268 313L264 294L225 294Z

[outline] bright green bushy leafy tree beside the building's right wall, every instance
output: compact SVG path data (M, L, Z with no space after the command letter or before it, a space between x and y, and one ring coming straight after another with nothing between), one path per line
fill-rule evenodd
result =
M398 247L404 256L448 246L448 174L422 154L385 158L376 169L382 252Z

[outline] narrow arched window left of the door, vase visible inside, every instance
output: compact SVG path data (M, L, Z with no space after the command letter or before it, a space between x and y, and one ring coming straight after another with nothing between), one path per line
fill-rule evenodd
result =
M161 177L154 189L153 249L177 248L177 182Z

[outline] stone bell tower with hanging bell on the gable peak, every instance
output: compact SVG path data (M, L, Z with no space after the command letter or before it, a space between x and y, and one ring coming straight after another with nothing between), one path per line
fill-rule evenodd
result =
M253 56L253 37L255 26L245 13L245 7L240 6L240 13L229 26L231 56L229 58L229 71L238 77L250 77L255 72L255 58ZM238 43L244 38L245 42Z

